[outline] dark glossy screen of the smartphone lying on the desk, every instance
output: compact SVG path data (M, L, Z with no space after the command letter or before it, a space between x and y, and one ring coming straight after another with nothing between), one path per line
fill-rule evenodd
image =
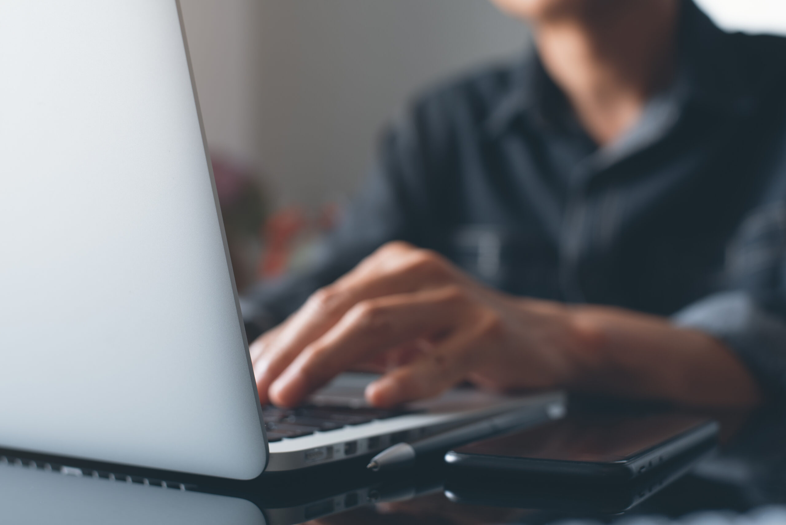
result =
M568 415L536 428L461 446L457 453L560 461L624 461L707 423L684 414Z

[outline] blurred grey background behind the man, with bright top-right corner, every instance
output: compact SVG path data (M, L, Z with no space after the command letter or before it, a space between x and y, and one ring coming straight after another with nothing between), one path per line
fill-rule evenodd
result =
M273 237L288 251L304 221L314 229L325 204L351 195L409 97L529 45L527 28L486 0L181 3L211 153L230 179L262 183L268 211L284 210ZM786 34L786 0L697 3L726 29ZM248 264L261 249L248 248Z

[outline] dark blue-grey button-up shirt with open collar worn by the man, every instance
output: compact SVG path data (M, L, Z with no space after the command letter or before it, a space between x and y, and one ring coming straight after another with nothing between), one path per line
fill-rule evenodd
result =
M678 73L599 147L535 53L429 91L309 272L244 298L267 328L389 240L518 296L672 316L786 399L786 39L689 1Z

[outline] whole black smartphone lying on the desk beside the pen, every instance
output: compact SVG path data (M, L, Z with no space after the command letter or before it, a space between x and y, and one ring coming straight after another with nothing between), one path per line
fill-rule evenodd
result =
M445 461L495 475L626 482L692 446L717 441L718 430L714 420L681 413L569 414L536 428L461 446L446 453Z

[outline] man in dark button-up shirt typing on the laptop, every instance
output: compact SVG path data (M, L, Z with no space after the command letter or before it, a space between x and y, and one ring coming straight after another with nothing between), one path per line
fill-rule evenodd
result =
M318 265L244 299L262 401L358 366L376 406L782 400L786 39L690 0L494 2L536 50L420 97Z

